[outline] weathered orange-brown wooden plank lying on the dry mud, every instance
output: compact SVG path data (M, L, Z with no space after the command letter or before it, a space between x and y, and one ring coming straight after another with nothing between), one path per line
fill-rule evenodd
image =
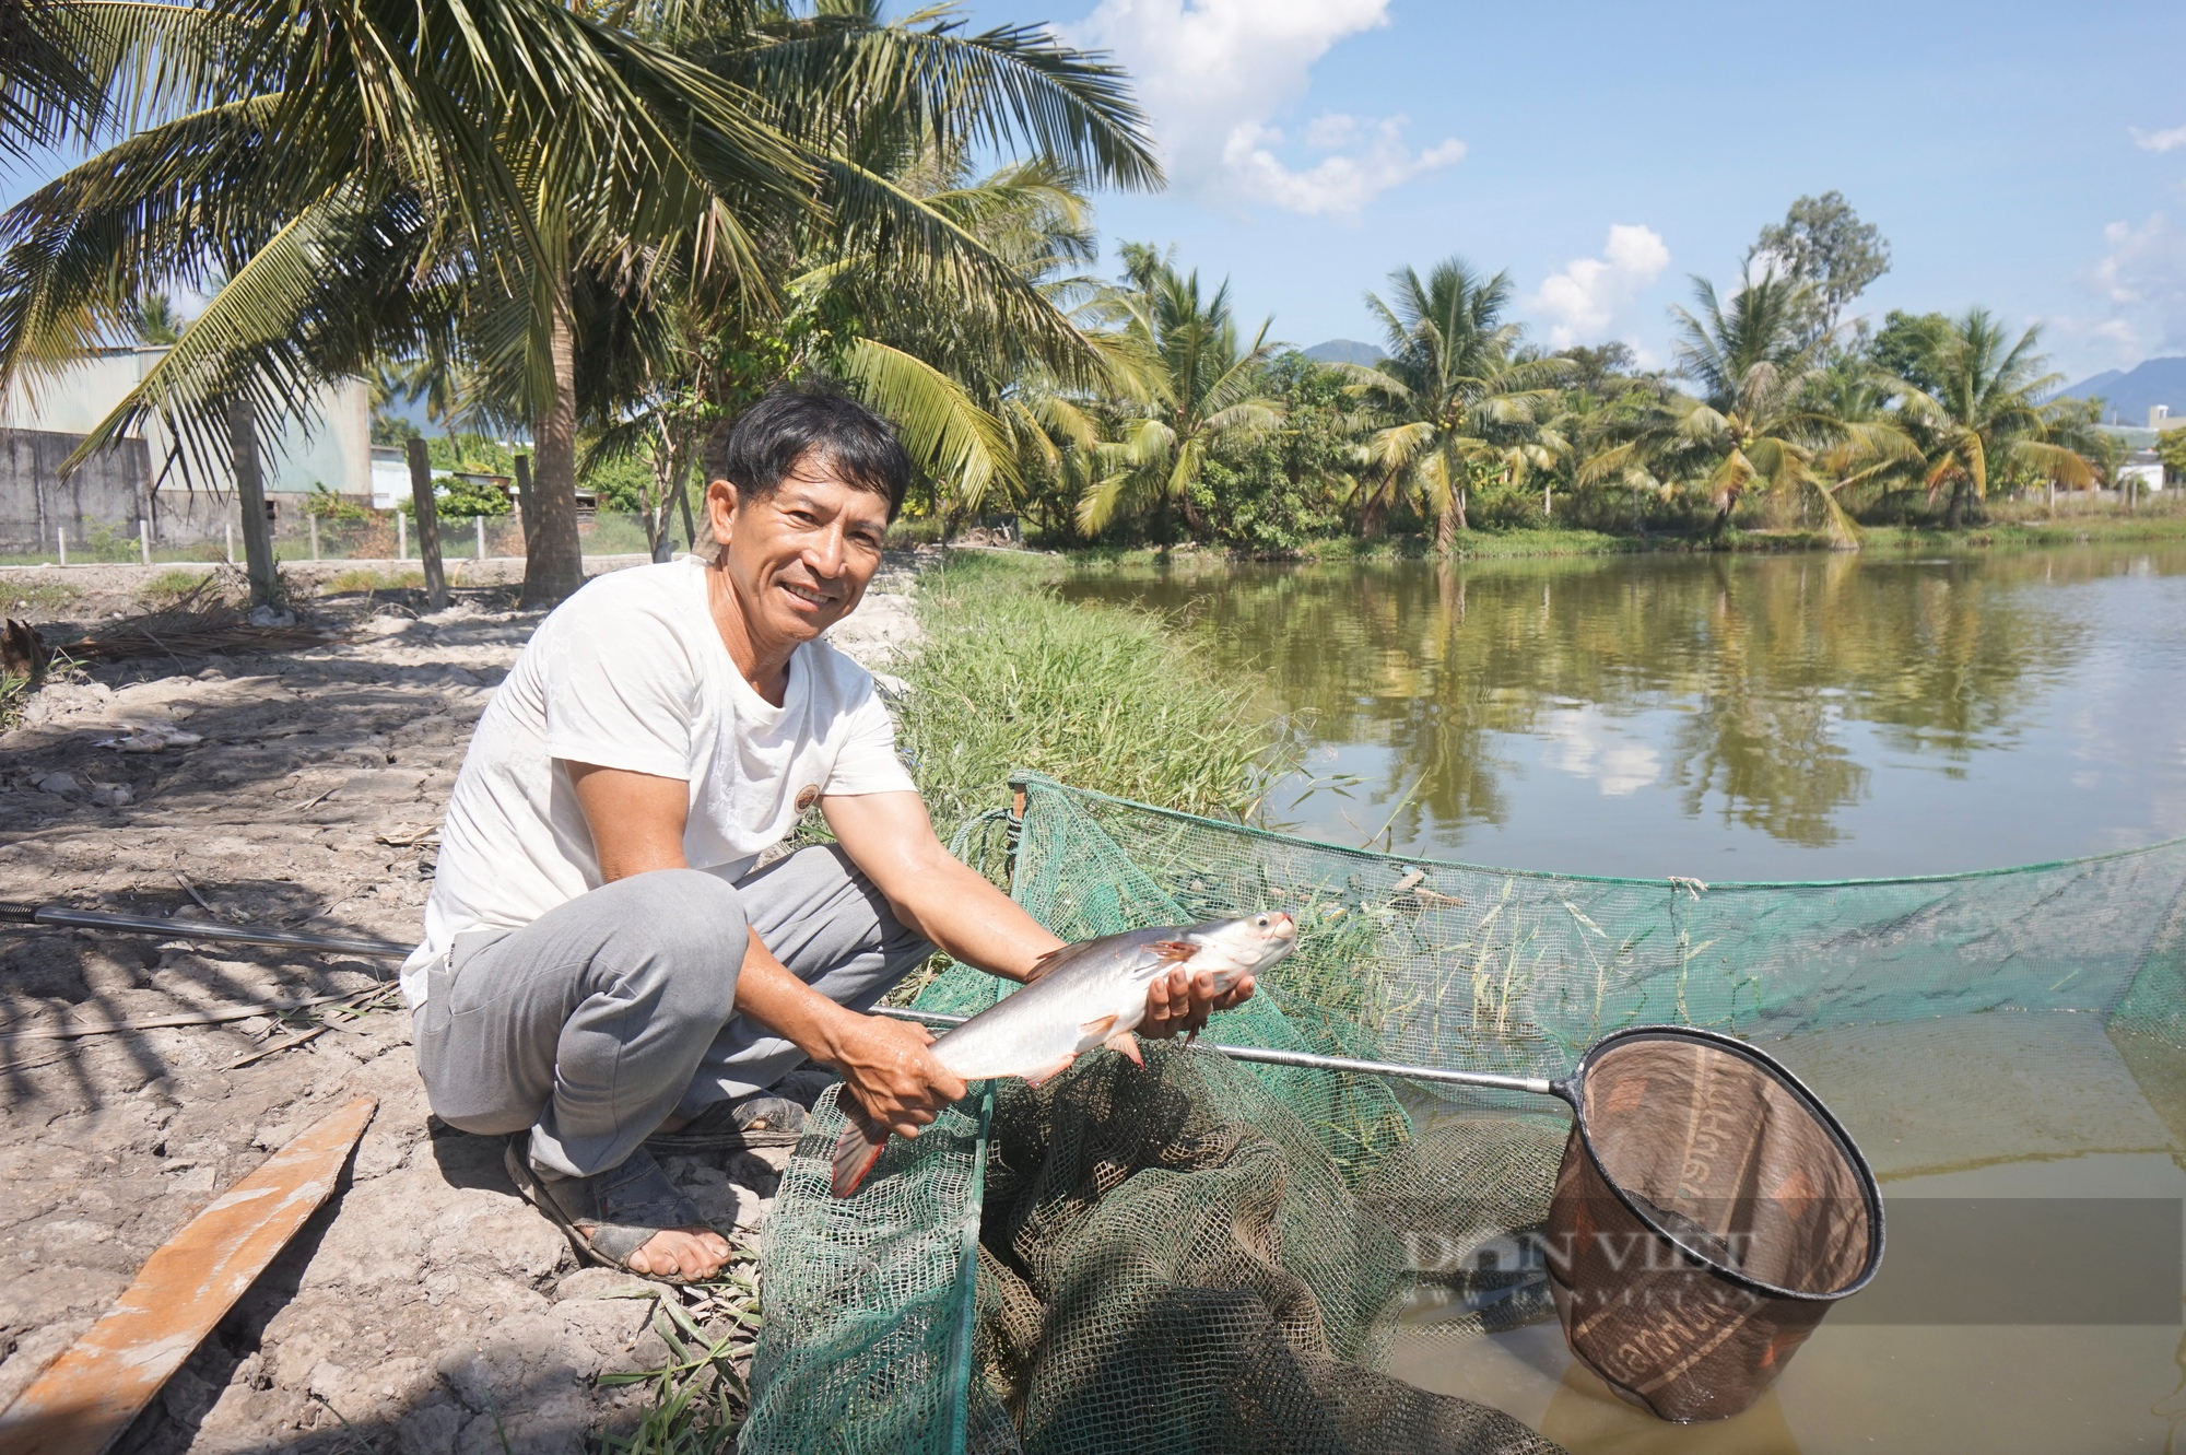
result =
M146 1258L92 1328L0 1413L0 1455L101 1455L319 1210L378 1101L275 1151Z

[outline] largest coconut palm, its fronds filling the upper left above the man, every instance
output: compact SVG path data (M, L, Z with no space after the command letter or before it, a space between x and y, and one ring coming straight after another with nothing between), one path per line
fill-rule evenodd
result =
M234 398L293 415L308 385L378 354L468 354L516 380L501 402L533 430L533 601L581 581L579 277L675 271L765 308L769 242L824 223L877 275L951 277L1067 343L1069 323L975 238L824 138L844 114L892 114L1076 144L1104 181L1159 177L1117 72L1023 28L896 33L828 7L791 35L776 7L669 0L81 11L107 114L142 125L0 216L0 387L175 282L219 293L85 448L160 413L219 461L249 433L225 428ZM710 50L680 55L700 22Z

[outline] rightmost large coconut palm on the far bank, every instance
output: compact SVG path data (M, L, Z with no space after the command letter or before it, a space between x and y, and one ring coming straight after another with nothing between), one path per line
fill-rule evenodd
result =
M1904 385L1902 411L1924 446L1928 498L1950 489L1943 524L1959 529L1989 478L2018 470L2075 489L2094 483L2094 465L2070 448L2072 419L2037 404L2064 382L2044 374L2040 328L2018 343L1987 308L1970 308L1926 341L1924 374L1935 389Z

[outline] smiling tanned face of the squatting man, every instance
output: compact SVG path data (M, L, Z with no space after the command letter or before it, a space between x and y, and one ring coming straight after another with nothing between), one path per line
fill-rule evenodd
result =
M888 498L844 481L811 450L772 496L706 487L715 540L754 647L809 642L866 594L881 568Z

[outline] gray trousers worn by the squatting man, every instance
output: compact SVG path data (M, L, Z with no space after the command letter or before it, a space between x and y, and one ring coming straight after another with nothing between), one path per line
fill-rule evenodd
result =
M531 1162L586 1178L621 1167L665 1116L772 1086L804 1053L734 1014L759 931L837 1005L872 1009L931 950L833 845L734 885L656 870L518 931L457 935L418 1012L418 1070L453 1127L531 1127Z

